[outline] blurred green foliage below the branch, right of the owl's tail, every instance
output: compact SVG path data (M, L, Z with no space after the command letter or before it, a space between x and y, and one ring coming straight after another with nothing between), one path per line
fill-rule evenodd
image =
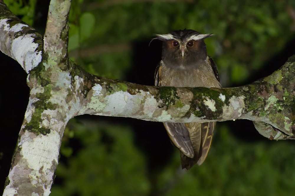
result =
M222 126L203 165L179 175L176 153L159 182L165 195L288 195L295 189L294 152L291 141L242 142Z

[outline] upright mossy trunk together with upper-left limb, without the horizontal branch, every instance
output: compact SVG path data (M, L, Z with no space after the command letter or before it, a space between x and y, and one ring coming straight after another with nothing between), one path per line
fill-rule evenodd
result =
M50 194L61 138L73 117L73 109L65 104L72 103L66 99L71 91L67 57L70 5L70 0L50 2L42 51L42 36L0 3L0 49L29 73L31 89L3 195Z

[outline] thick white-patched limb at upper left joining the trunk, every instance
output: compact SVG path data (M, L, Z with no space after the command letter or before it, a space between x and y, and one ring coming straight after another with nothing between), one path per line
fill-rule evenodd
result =
M0 1L0 50L28 73L41 62L42 36L21 21Z

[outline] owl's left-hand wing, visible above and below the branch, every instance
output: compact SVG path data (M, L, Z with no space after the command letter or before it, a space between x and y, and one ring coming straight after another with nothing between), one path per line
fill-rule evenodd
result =
M163 61L160 61L155 71L155 86L161 85ZM164 122L165 129L172 143L186 156L194 157L194 149L191 145L189 131L185 123Z

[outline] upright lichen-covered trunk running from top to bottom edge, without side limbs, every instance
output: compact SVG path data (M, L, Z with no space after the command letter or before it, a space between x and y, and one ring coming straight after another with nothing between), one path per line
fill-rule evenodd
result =
M70 4L50 2L42 62L28 76L29 104L3 195L50 194L61 138L79 106L66 69Z

